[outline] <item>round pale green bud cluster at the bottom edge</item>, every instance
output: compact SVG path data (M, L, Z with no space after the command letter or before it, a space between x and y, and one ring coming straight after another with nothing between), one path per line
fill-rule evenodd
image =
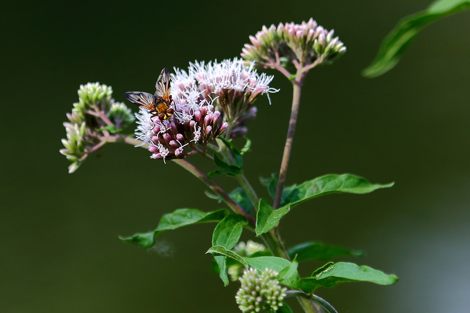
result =
M237 291L235 300L243 313L256 313L261 309L277 311L286 296L286 287L277 280L279 273L272 269L258 270L251 267L240 278L242 286Z

